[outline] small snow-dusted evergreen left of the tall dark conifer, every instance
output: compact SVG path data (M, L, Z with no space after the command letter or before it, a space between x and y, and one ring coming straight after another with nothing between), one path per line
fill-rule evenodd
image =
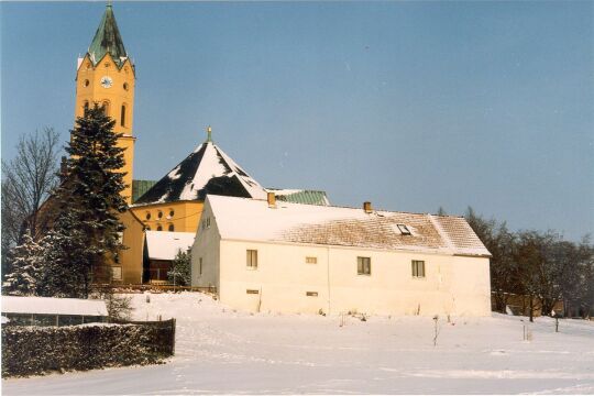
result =
M42 272L42 248L28 231L22 243L10 251L12 272L7 274L3 289L15 296L35 296Z

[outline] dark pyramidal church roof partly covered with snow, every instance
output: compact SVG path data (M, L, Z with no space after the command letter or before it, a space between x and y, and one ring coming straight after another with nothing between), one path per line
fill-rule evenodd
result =
M205 200L207 194L266 198L265 189L208 139L134 205Z

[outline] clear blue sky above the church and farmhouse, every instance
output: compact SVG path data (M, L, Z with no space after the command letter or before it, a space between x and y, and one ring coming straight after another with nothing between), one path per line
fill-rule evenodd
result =
M594 2L123 2L134 178L213 140L266 187L594 229ZM103 2L0 3L2 157L73 127Z

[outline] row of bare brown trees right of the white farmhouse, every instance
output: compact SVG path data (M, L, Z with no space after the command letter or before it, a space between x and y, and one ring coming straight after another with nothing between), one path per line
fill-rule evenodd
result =
M440 213L444 213L440 208ZM563 301L564 316L594 316L594 245L590 237L566 241L556 231L512 232L504 222L485 219L469 208L464 216L491 258L495 309L505 312L509 295L528 297L542 315ZM531 318L530 318L531 319Z

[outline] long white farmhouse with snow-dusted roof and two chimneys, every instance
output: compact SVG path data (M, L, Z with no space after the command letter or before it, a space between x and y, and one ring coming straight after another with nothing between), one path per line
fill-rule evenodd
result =
M209 195L193 286L249 311L486 316L490 252L461 217Z

